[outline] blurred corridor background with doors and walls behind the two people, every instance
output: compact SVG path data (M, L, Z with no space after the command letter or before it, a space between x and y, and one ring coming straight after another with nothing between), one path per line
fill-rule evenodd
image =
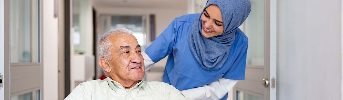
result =
M133 31L142 50L207 0L0 0L0 100L63 100L103 79L97 42ZM245 80L227 100L343 100L342 1L250 0ZM167 57L166 57L167 58ZM166 58L145 73L162 81Z

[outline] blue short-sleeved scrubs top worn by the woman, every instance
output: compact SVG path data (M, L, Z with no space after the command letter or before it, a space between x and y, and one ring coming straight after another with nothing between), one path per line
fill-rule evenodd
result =
M175 18L145 49L145 53L155 63L169 55L163 82L182 91L202 87L219 78L244 80L248 38L240 29L236 30L229 57L221 68L205 70L200 67L188 45L189 31L199 16L200 13ZM226 98L227 94L221 100Z

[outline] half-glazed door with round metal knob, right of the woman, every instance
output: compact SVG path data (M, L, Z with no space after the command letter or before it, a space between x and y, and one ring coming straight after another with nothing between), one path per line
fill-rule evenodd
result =
M250 2L251 12L240 26L249 38L245 80L238 81L233 97L234 100L276 100L276 1Z

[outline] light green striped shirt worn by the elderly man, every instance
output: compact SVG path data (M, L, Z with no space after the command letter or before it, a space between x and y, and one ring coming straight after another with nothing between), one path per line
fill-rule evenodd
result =
M91 80L80 85L64 100L190 100L186 99L172 85L163 82L140 81L134 87L125 89L118 82L107 77Z

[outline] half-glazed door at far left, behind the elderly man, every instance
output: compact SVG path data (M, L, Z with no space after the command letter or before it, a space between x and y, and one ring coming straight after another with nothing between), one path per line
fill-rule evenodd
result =
M39 0L3 0L4 100L40 100L42 54ZM1 2L3 2L1 1ZM7 13L8 12L8 13ZM0 79L1 79L0 75ZM0 86L1 87L1 86ZM1 88L2 89L2 88ZM1 100L1 98L0 98Z

